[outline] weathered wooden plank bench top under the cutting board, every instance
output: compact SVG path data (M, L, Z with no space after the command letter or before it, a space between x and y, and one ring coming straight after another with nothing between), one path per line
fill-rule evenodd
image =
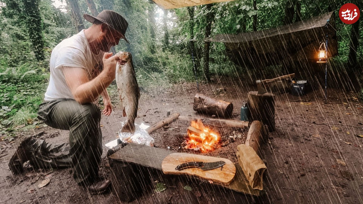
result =
M115 152L113 155L109 156L109 158L113 159L114 162L129 162L162 171L162 161L166 156L172 153L174 152L170 150L130 143L121 148L119 151ZM213 184L231 189L236 192L256 196L260 195L259 190L252 189L252 187L249 185L249 182L243 174L241 167L238 164L234 164L234 166L236 167L236 175L234 176L232 183L229 185L222 185L218 183Z

